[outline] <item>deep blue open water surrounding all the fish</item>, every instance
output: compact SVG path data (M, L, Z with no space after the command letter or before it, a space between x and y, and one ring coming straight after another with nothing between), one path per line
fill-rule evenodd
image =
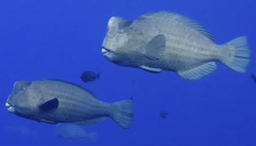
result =
M119 67L103 58L102 41L111 16L137 19L150 11L176 11L205 26L217 44L248 36L253 60L248 73L218 70L190 81L175 72L152 74ZM256 145L256 1L1 1L0 87L1 145ZM85 84L83 71L101 73ZM131 81L137 79L137 84ZM129 130L111 118L85 129L98 132L96 143L68 142L54 136L55 125L7 112L5 102L17 80L56 78L80 84L101 101L133 96ZM167 119L160 117L166 110ZM22 125L37 136L12 135L6 127Z

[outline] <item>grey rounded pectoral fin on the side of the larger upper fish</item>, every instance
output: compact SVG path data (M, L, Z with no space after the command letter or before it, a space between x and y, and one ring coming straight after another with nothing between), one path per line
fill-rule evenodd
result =
M165 36L159 34L154 36L154 38L145 45L145 56L152 60L156 60L163 56L165 50Z

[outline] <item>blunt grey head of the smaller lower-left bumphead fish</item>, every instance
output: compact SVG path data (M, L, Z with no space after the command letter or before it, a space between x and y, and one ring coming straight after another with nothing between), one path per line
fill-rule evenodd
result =
M32 87L33 82L17 81L7 99L8 112L22 118L30 118L41 100L38 92Z

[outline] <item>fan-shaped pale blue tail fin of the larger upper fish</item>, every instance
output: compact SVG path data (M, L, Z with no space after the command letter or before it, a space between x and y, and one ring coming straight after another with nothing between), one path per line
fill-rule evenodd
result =
M226 45L231 46L234 53L228 61L223 63L234 71L246 73L252 58L247 36L237 37L232 41L228 41Z

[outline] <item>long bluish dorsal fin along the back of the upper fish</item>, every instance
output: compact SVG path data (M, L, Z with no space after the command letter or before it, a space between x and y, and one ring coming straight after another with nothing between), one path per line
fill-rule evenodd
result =
M180 13L174 11L152 11L146 13L145 15L139 16L138 19L146 19L152 17L174 19L182 24L189 26L190 28L193 28L197 32L200 32L203 36L206 36L210 41L215 43L215 39L213 36L211 36L210 32L208 32L207 29L202 26L202 24L199 24L196 20L191 19L188 16L181 15Z

